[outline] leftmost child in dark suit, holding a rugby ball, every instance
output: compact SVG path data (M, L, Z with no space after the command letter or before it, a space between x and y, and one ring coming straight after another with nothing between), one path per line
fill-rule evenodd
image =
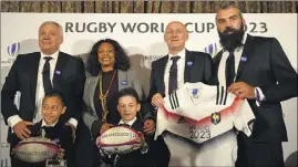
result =
M42 117L39 123L28 126L31 131L30 137L42 136L54 140L61 146L60 156L66 160L68 167L74 166L74 144L72 137L72 128L63 124L59 117L66 111L65 100L58 91L52 91L45 94L42 101ZM8 142L13 148L20 142L20 138L14 134L8 136ZM61 157L61 158L62 158ZM45 161L30 164L20 159L12 159L12 167L44 167Z

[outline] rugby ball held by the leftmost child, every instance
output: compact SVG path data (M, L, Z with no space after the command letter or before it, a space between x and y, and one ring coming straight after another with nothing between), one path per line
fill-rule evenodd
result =
M41 163L52 159L58 155L59 146L51 139L44 137L30 137L21 140L12 154L27 163Z

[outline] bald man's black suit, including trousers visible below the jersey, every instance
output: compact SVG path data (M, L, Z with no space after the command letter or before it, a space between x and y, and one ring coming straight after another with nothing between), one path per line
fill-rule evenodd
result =
M163 96L165 96L165 84L167 83L164 83L164 73L167 61L168 55L152 63L151 88L148 96L150 102L155 93L161 93ZM185 50L184 82L203 82L205 84L212 84L213 64L209 54ZM171 157L169 150L161 136L154 144L153 149L157 166L168 166Z

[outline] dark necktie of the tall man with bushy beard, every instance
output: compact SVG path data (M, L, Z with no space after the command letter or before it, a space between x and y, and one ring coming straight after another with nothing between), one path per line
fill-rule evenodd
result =
M229 52L229 55L226 61L226 86L228 87L232 83L234 83L235 79L235 55L234 51Z

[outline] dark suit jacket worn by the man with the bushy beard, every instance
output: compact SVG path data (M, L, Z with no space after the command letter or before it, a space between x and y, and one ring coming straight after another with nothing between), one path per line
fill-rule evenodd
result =
M260 87L266 97L260 107L256 105L255 100L248 101L256 116L253 139L287 140L280 102L297 96L297 73L275 38L248 34L242 56L245 56L246 61L239 62L236 82ZM220 59L222 51L214 58L216 73Z

